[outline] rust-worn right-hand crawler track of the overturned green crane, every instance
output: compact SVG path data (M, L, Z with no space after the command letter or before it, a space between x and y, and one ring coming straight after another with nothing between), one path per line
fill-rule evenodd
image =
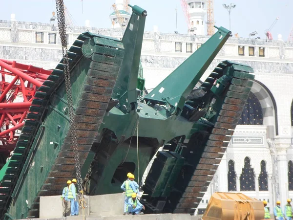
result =
M253 83L251 80L254 79L254 75L250 72L253 72L253 69L229 61L220 63L208 77L210 84L204 82L202 86L209 90L212 87L212 82L223 75L226 66L233 66L233 79L217 117L217 122L209 135L209 140L205 143L199 163L174 213L194 213L228 147L251 90Z

